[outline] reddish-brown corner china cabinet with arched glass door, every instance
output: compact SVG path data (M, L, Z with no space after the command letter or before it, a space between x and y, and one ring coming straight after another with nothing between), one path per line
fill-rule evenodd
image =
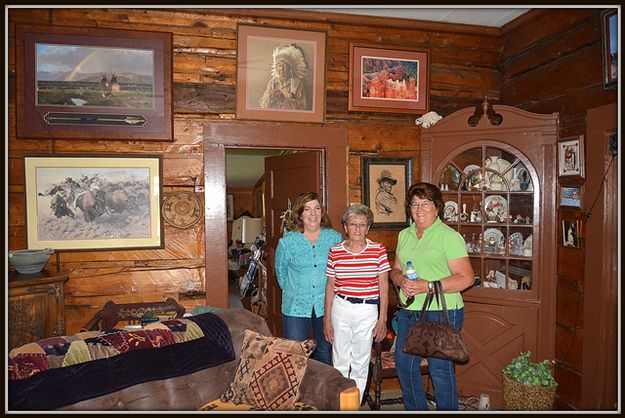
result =
M521 351L554 358L558 114L484 103L421 129L421 178L443 191L480 284L463 293L459 393L502 405L502 370Z

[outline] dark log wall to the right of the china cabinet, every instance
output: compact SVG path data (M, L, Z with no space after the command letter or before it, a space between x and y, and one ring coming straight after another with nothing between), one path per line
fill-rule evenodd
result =
M503 28L501 101L537 112L560 114L560 139L586 134L586 112L615 103L616 89L606 89L602 73L602 9L537 9ZM603 147L586 139L586 154ZM593 170L586 161L586 172ZM599 167L596 167L599 168ZM596 169L595 168L595 169ZM603 167L601 166L601 169ZM557 167L554 167L557 171ZM558 187L585 186L584 179L561 179ZM582 189L583 190L583 189ZM594 196L583 196L585 209ZM614 204L617 204L615 201ZM585 272L585 245L562 245L562 219L577 219L581 231L586 213L560 207L558 211L556 380L559 383L556 409L579 409L584 349L584 286L597 280ZM592 342L587 342L587 344Z

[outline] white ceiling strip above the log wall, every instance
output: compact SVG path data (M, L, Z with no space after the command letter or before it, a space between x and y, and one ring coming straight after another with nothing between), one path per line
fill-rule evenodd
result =
M315 12L349 13L493 27L502 27L506 23L516 19L530 10L525 8L479 6L458 6L455 8L432 8L431 6L385 6L384 8L376 6L304 6L298 7L297 9Z

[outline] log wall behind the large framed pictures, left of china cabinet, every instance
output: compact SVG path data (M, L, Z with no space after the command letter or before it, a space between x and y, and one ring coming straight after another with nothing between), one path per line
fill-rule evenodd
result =
M386 43L431 51L431 108L447 115L485 95L498 102L499 31L486 27L406 24L376 19L270 9L52 8L9 10L9 248L26 248L22 156L41 153L158 153L163 192L195 191L203 201L203 126L235 119L237 24L327 33L326 125L345 127L349 143L349 199L361 198L360 157L410 156L419 176L418 115L348 111L349 42ZM15 25L42 24L173 33L173 142L28 140L15 138ZM204 222L188 229L165 224L165 248L62 252L67 332L76 332L106 301L178 299L187 310L204 302ZM397 231L371 238L395 248ZM215 242L224 242L218 237Z

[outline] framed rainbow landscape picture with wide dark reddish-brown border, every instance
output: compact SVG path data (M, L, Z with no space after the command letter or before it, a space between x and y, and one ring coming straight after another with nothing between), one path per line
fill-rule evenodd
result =
M172 34L16 26L20 139L172 141Z

